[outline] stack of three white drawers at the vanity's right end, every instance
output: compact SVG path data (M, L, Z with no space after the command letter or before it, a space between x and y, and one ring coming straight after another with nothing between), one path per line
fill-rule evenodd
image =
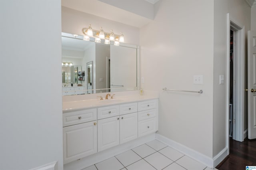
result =
M138 102L138 137L158 130L157 100Z

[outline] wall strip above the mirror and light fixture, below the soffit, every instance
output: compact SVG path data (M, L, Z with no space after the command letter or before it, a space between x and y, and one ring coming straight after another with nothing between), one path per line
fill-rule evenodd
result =
M140 44L139 28L62 6L62 32L82 35L82 28L88 28L89 24L94 30L100 30L102 27L105 32L123 32L125 43Z

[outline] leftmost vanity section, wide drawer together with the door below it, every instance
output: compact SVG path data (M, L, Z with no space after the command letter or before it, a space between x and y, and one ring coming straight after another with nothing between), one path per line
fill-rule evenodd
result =
M97 109L63 113L63 162L97 152Z

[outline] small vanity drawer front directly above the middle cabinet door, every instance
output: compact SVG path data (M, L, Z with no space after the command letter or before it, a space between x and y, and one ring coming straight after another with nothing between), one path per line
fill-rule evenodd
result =
M98 119L104 119L104 118L118 116L118 115L119 115L119 105L98 108Z

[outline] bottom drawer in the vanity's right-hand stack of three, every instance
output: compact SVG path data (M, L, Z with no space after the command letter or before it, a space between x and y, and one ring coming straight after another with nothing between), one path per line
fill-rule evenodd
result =
M144 136L146 134L150 134L152 132L156 132L156 118L146 119L144 121L138 122L138 137Z

